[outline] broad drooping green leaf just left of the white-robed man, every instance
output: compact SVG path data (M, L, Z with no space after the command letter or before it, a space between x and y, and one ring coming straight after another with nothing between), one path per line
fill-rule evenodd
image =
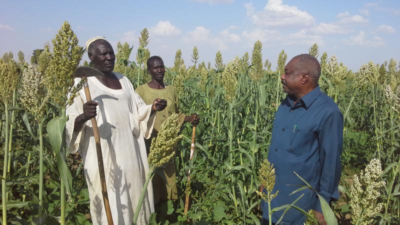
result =
M65 160L65 135L64 128L66 117L55 116L47 123L48 138L57 158L57 167L60 178L64 181L65 192L68 200L72 201L72 177Z

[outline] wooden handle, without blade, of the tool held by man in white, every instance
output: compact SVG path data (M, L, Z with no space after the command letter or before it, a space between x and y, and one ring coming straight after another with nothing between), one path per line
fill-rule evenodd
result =
M86 101L91 101L89 86L87 84L87 78L82 77L82 79L85 80L83 82L83 88L84 88L84 93L86 95ZM98 174L100 175L101 194L103 195L105 215L107 216L108 225L113 225L114 223L112 221L111 208L109 207L109 201L108 201L107 184L105 182L103 154L101 153L101 145L100 145L100 134L98 132L96 118L92 117L90 121L93 127L94 142L96 143Z

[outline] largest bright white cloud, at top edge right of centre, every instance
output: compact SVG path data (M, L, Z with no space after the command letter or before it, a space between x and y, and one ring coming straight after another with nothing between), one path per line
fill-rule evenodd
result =
M289 25L310 25L314 18L306 11L299 10L296 6L283 4L283 0L268 0L264 9L255 11L252 3L245 3L252 22L258 26L289 26Z

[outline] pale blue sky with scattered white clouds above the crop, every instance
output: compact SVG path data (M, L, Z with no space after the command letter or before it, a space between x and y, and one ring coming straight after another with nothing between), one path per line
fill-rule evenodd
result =
M280 50L289 59L308 52L313 42L320 54L335 54L353 71L369 60L400 60L398 0L3 0L0 54L12 51L16 57L22 50L28 59L32 49L51 42L64 20L82 46L97 35L113 46L127 41L133 44L132 59L146 27L150 54L161 56L168 66L178 48L186 65L192 64L194 46L200 61L214 64L220 50L226 63L251 53L258 39L263 60L269 59L272 68Z

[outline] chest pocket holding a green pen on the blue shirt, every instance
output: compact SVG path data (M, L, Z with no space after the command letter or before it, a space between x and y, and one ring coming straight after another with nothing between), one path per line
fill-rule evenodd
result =
M305 155L309 152L314 132L308 130L297 129L290 140L290 146L288 151L296 155Z

